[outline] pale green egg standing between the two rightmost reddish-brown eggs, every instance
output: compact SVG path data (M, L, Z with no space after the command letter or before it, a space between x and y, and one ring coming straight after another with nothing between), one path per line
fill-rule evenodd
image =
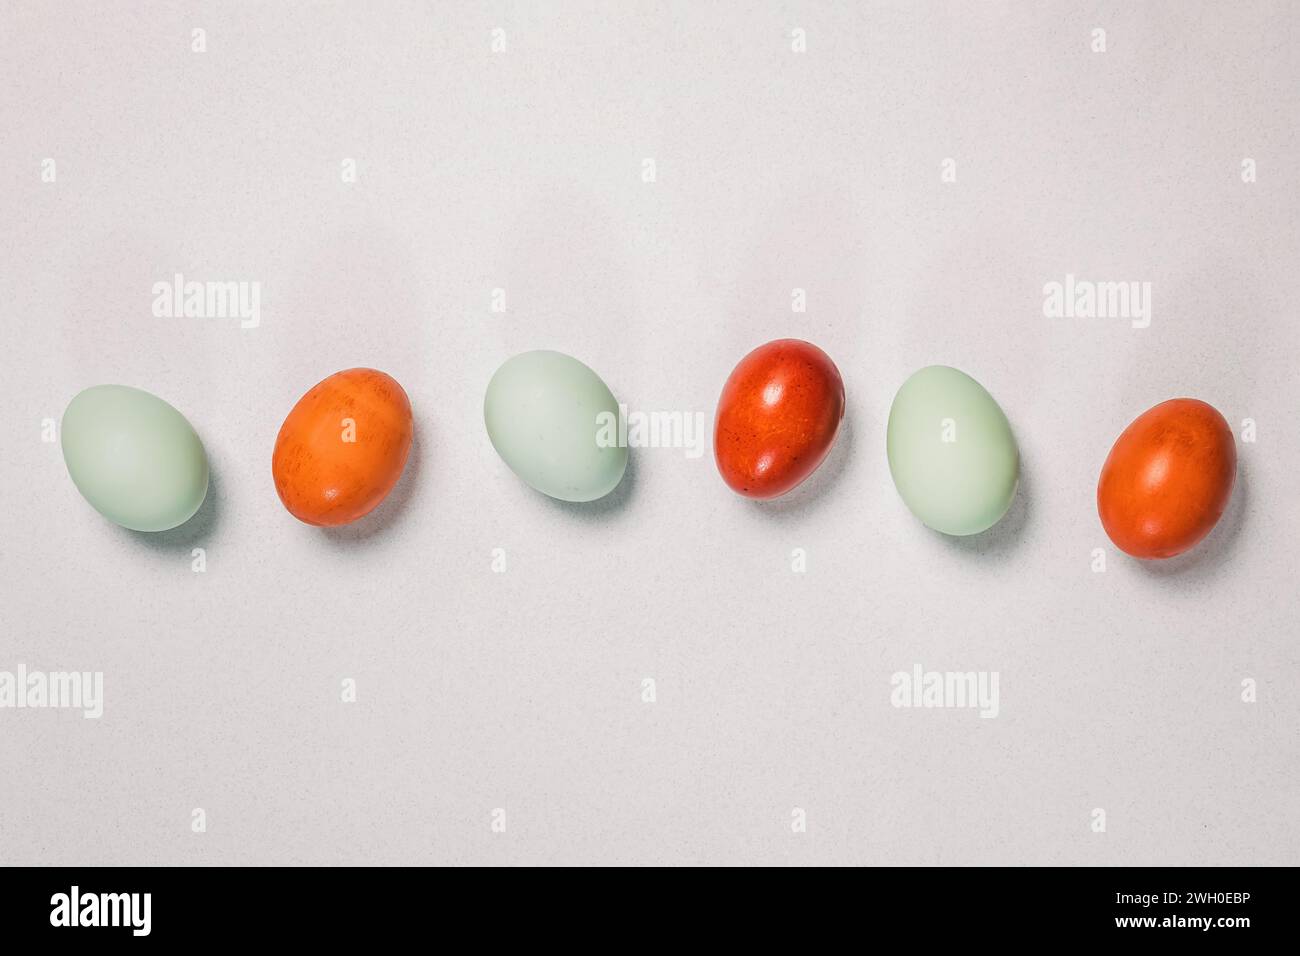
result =
M887 454L907 509L944 535L978 535L1015 498L1020 455L993 397L965 372L930 365L898 389Z

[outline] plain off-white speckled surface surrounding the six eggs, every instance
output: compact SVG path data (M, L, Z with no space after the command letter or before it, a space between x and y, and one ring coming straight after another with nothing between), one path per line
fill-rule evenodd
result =
M0 670L101 670L107 700L0 710L0 861L1297 862L1297 51L1286 0L6 1ZM155 319L174 272L260 281L261 326ZM1150 328L1044 319L1067 272L1152 282ZM566 506L484 433L516 351L711 420L783 336L849 394L785 501L649 449ZM884 459L932 363L1020 442L975 540ZM351 365L406 386L419 451L322 532L270 449ZM40 441L101 382L203 437L182 529L108 524ZM1149 567L1096 477L1175 395L1258 441L1214 535ZM1001 715L892 708L914 663L997 670Z

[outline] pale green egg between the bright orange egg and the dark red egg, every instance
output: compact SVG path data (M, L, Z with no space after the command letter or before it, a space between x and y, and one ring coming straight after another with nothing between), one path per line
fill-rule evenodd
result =
M610 388L575 358L530 351L507 359L488 382L484 424L497 454L525 484L560 501L595 501L628 467L608 428L619 418Z

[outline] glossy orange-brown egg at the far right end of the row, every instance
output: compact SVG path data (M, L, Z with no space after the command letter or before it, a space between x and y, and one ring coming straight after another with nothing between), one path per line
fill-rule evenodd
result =
M1210 533L1235 481L1236 444L1223 416L1195 398L1171 398L1115 438L1097 481L1097 514L1124 554L1173 558Z

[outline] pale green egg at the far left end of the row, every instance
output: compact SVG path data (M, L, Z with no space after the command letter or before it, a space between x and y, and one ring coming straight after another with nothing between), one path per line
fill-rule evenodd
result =
M64 462L82 497L131 531L168 531L208 494L208 457L185 415L126 385L95 385L68 405Z

